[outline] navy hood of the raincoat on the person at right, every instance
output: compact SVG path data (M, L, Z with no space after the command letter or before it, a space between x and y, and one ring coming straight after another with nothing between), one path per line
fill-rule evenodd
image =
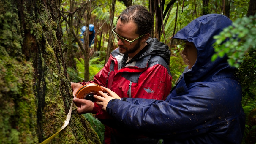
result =
M211 62L215 53L213 44L216 41L213 36L218 35L224 28L230 26L232 21L225 15L208 14L196 18L173 37L188 42L193 42L197 48L197 60L192 69L186 72L191 81L201 81L209 78L214 79L219 71L232 68L227 63L227 57L217 58ZM200 80L201 79L201 80Z

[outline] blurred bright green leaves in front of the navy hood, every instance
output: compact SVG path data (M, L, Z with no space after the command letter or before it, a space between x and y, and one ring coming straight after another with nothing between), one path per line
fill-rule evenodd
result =
M214 36L214 39L216 39L214 45L217 53L212 57L212 61L217 56L223 57L227 54L230 66L238 68L244 61L244 54L255 50L256 15L238 18L233 22L233 26L223 29L219 35Z

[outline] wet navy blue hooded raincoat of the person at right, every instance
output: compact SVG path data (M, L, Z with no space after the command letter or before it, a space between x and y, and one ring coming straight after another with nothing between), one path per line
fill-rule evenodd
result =
M240 83L226 56L211 62L212 37L231 24L224 15L209 14L181 29L173 38L195 44L194 66L185 69L165 101L111 100L107 112L117 127L164 139L165 144L240 144L245 128Z

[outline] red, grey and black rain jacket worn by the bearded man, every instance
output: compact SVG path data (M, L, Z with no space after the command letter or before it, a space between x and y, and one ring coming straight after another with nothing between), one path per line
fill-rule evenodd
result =
M170 50L167 45L156 38L149 38L146 42L147 45L126 64L128 55L121 54L116 48L111 52L105 66L94 76L94 80L81 84L96 83L125 98L165 99L171 90ZM94 103L93 113L96 113L96 117L103 123L108 120L112 121L112 117L101 108ZM116 133L118 137L133 134L106 126L105 139L108 139L107 136L110 137L110 131L111 134ZM137 134L131 135L130 138L136 136ZM111 137L113 139L113 136ZM105 141L105 143L109 142Z

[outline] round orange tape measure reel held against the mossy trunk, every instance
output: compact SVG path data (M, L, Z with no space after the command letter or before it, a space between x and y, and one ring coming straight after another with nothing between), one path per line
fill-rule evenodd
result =
M103 91L102 88L99 87L99 85L95 84L95 83L89 83L86 84L84 86L82 86L75 94L75 97L79 98L79 99L88 99L94 102L94 97L93 95L98 95L101 96L99 94L99 91ZM81 107L80 103L76 103L76 105L78 107Z

